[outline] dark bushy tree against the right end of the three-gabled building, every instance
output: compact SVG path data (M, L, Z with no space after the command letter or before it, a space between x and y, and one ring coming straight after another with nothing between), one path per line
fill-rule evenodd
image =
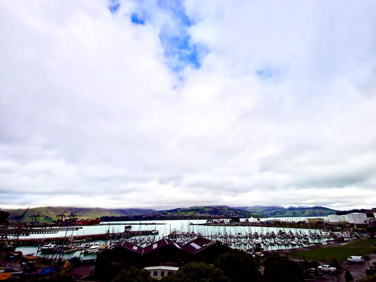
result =
M220 255L214 262L230 281L260 281L260 272L255 260L248 253L241 250Z

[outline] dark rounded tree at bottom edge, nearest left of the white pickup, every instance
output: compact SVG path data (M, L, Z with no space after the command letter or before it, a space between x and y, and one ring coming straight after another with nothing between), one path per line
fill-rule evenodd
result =
M303 267L299 262L292 261L286 256L270 254L264 261L264 281L303 282Z

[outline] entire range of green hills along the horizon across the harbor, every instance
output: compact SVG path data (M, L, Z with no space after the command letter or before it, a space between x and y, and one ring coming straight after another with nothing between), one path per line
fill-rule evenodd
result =
M25 209L8 210L11 221L16 221ZM126 220L168 220L168 219L188 219L188 218L230 218L238 216L240 218L262 218L262 217L317 217L329 214L336 214L336 210L321 206L314 207L288 207L282 206L191 206L188 208L168 209L156 211L154 209L104 209L104 208L78 208L78 207L39 207L31 208L27 211L24 222L32 220L33 215L41 212L40 221L54 221L58 214L66 211L68 215L77 211L78 218L101 217L103 221L126 221Z

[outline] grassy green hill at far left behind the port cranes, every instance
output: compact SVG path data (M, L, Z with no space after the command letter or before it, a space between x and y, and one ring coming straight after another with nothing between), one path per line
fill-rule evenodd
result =
M18 216L22 214L26 209L13 209L9 211L9 219L16 221ZM40 221L53 221L58 218L58 214L62 214L64 211L68 213L76 212L79 214L78 218L96 218L103 216L126 216L126 215L139 215L150 212L156 212L154 209L103 209L103 208L77 208L77 207L39 207L31 208L27 211L24 222L32 220L33 215L41 212Z

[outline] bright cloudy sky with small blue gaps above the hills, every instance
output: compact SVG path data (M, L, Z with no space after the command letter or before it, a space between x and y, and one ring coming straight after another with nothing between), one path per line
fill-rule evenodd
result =
M0 2L0 208L375 207L375 14Z

